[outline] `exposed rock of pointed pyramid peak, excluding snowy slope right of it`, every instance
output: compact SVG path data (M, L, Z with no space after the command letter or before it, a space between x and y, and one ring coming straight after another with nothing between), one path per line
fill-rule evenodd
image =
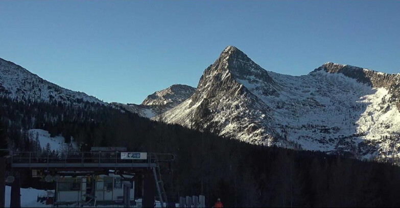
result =
M205 69L193 96L163 117L166 122L205 128L245 141L250 138L257 144L271 144L271 135L278 135L263 124L272 122L268 116L271 109L242 83L263 95L278 96L268 72L238 48L228 46L215 63Z

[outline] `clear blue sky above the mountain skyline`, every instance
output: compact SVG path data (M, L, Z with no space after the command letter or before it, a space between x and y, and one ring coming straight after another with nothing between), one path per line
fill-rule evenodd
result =
M0 1L0 57L104 101L196 87L234 45L266 70L400 72L400 1Z

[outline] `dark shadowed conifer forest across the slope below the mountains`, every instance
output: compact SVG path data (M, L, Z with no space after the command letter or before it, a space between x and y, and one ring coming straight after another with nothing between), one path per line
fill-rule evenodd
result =
M65 104L1 97L0 115L1 148L8 142L13 150L32 150L27 130L40 128L61 134L66 142L73 137L83 144L81 150L126 146L174 153L175 161L161 167L172 201L201 194L207 206L217 198L226 207L400 205L400 168L391 164L251 145L82 100ZM23 187L32 185L23 180Z

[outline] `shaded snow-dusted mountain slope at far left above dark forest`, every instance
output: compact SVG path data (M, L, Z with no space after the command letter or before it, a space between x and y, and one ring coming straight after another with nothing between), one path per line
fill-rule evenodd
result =
M17 100L62 101L68 103L96 102L107 105L96 97L75 92L43 80L10 61L0 58L0 96Z

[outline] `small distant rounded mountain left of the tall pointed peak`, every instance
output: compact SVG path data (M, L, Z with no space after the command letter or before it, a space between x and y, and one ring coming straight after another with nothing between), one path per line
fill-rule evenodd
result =
M167 89L163 89L146 97L140 105L132 103L118 103L113 102L115 106L119 106L132 113L137 113L142 117L152 118L172 109L179 105L181 102L189 98L195 93L196 88L188 85L175 84Z

